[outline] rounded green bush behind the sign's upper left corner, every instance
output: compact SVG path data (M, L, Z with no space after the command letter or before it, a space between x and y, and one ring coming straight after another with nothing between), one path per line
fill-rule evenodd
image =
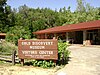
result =
M24 38L24 39L30 38L29 30L24 29L22 26L12 27L6 36L6 40L8 42L12 42L13 44L16 45L18 44L18 39L20 38Z

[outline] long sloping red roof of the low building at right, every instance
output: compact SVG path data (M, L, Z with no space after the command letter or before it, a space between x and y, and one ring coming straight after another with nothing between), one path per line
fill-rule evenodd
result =
M33 34L61 33L61 32L71 32L71 31L92 30L92 29L100 29L100 20L64 25L64 26L57 26L57 27L33 32Z

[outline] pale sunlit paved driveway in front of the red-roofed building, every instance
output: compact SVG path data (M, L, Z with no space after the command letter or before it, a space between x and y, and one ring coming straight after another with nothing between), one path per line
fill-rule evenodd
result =
M100 75L100 46L72 45L71 59L59 72L67 75Z

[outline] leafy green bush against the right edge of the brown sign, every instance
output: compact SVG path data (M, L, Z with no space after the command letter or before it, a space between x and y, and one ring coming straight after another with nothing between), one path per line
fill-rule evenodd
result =
M68 43L58 43L58 65L66 64L69 60L70 51L67 50Z

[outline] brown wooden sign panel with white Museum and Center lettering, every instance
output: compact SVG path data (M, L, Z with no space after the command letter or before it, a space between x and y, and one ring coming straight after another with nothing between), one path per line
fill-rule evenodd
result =
M20 59L57 60L57 40L18 40L18 56Z

